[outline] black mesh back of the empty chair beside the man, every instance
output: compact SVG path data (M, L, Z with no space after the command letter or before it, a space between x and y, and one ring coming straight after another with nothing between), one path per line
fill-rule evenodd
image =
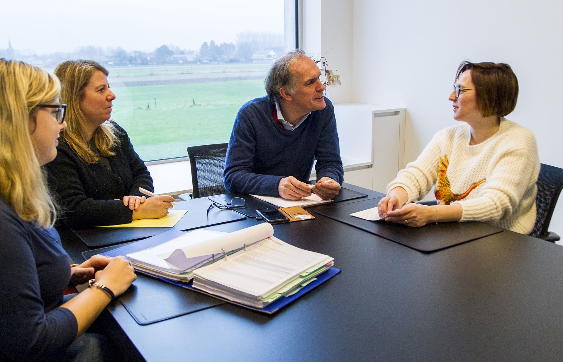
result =
M226 193L223 171L229 143L204 144L187 148L190 157L194 198Z

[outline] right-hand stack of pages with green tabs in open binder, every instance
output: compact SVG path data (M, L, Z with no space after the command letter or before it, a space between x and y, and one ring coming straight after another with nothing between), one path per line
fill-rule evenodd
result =
M334 264L333 260L328 255L303 250L270 236L226 260L194 270L193 287L262 309L316 280L316 275Z

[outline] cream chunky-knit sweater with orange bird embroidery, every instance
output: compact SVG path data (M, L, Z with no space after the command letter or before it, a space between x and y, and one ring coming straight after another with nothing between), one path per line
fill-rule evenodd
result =
M469 145L470 139L471 128L466 123L436 133L418 159L387 185L387 192L403 187L410 202L422 199L436 183L437 196L448 193L448 180L439 178L442 161L454 194L452 203L463 208L460 221L483 221L529 234L535 223L535 182L540 166L534 134L502 117L497 133L489 139L475 146Z

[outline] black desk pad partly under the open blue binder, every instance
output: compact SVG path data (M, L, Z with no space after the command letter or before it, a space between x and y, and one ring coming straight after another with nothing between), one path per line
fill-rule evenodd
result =
M84 259L89 259L92 255L104 254L117 256L127 254L128 248L136 250L133 246L138 242L131 242L124 245L114 245L96 250L88 250L82 253ZM146 246L149 247L149 246ZM117 251L117 248L122 252ZM116 251L113 251L116 250ZM170 284L156 278L147 277L137 273L137 280L125 293L117 297L129 314L138 324L151 324L174 318L176 316L194 313L199 310L207 309L225 302L217 298L209 297L200 293L187 291L184 288L171 287Z

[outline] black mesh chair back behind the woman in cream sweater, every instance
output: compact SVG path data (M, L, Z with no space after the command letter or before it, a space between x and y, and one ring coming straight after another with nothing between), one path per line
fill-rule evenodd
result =
M535 206L538 214L535 218L534 229L530 233L530 236L534 237L547 233L553 210L563 188L563 169L542 164L536 185L538 195L535 198Z

